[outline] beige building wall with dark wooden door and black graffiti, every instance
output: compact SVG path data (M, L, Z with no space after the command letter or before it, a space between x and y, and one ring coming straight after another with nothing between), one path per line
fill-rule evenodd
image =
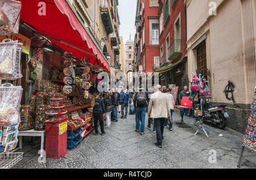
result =
M256 85L256 2L184 2L188 72L197 70L208 79L212 102L227 104L229 126L244 132ZM188 78L191 82L192 74Z

